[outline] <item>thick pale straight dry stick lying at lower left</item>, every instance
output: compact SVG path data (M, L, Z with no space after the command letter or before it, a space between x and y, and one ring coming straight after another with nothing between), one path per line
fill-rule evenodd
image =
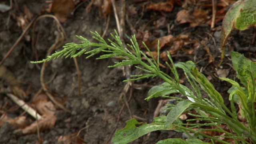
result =
M26 102L24 102L23 100L20 100L19 98L17 98L13 94L6 94L6 95L9 98L11 98L16 104L18 104L18 106L20 106L23 110L28 112L28 114L30 114L30 116L32 116L33 118L38 119L38 120L42 119L42 116L40 114L38 114L36 112L36 110L34 110L28 104L26 104Z

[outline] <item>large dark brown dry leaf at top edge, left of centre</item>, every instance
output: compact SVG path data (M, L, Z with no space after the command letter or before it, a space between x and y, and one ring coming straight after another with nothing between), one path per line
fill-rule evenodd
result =
M70 18L74 8L75 4L73 0L54 0L50 10L60 22L65 22Z

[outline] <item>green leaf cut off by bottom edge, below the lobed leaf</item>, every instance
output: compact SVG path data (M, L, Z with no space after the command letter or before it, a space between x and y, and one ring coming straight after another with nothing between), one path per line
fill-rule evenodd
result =
M156 144L209 144L209 143L203 142L202 140L199 140L197 138L188 138L186 139L186 141L180 138L168 138L165 140L160 140Z

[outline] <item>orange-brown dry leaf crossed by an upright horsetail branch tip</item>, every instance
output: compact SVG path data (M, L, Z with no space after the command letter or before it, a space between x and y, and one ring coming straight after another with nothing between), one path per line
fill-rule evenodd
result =
M158 40L160 41L160 45L159 45L159 50L161 50L162 47L164 46L170 46L171 42L172 42L172 35L168 35L168 36L162 36L160 38L156 38L153 42L151 42L150 46L155 48L155 50L157 51L157 47L158 47Z

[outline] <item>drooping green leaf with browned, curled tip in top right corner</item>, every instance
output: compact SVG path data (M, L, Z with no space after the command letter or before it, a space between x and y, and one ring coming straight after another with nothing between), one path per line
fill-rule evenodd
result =
M255 0L238 0L226 13L222 21L221 31L221 58L224 58L225 44L234 28L246 30L249 26L256 24L256 2Z

